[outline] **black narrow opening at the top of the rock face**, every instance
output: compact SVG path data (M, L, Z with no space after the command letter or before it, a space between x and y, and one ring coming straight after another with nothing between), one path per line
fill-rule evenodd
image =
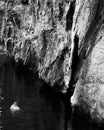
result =
M70 8L68 10L68 13L66 15L66 31L71 30L72 23L73 23L73 15L75 11L75 0L70 4Z

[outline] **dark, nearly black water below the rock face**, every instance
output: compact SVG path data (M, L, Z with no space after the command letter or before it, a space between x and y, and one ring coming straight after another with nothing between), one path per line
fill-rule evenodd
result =
M7 58L8 59L8 58ZM72 116L69 100L31 72L19 72L0 56L0 130L99 130ZM4 64L5 63L5 64ZM17 102L21 111L12 113Z

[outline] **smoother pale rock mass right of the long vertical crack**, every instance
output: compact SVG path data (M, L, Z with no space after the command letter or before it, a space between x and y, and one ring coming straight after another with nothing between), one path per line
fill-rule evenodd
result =
M104 120L104 1L79 1L73 23L73 36L79 38L79 49L73 107L84 111L95 121Z

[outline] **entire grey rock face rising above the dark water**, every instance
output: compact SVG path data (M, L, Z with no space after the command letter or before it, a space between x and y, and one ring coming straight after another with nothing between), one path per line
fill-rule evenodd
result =
M102 121L104 0L9 0L0 5L1 41L16 63L62 92L75 87L72 106Z

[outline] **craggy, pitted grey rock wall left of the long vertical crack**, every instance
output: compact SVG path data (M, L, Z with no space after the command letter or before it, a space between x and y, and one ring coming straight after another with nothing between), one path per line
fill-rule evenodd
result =
M3 7L2 7L3 8ZM71 77L71 29L75 1L15 0L4 4L1 39L16 63L38 71L51 86L66 92ZM9 33L11 29L11 34ZM6 32L4 35L3 32ZM2 38L3 37L3 38ZM12 47L13 46L13 47Z

